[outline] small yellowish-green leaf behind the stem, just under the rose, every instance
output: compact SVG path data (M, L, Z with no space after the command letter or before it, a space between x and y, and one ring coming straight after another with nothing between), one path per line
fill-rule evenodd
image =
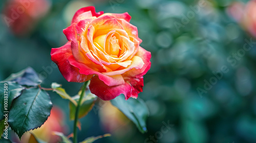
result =
M76 102L78 102L79 97L80 96L75 96L75 97L73 97L73 99ZM92 110L96 99L97 99L97 97L92 93L84 95L84 98L81 102L81 108L80 108L79 114L78 114L79 118L82 118L83 116L86 116L89 113L89 111ZM70 102L69 107L70 107L70 120L74 120L75 119L76 106L72 102Z

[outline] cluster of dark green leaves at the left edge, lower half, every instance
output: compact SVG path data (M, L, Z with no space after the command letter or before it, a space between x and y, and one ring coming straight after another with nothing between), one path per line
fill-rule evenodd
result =
M3 114L8 113L8 124L19 138L25 132L40 127L50 115L52 102L48 93L40 88L40 83L41 80L31 67L0 82L0 86L4 87L0 88L1 120ZM4 95L8 95L7 108Z

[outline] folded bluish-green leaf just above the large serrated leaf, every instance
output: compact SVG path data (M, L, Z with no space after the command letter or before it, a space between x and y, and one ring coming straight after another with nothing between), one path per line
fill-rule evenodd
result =
M27 86L37 86L42 82L35 70L31 67L19 71L18 73L11 74L11 76L9 76L5 81L15 81L20 85Z

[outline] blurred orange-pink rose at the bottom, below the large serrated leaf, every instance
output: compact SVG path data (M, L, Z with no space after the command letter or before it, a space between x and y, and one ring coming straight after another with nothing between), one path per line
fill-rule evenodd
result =
M65 126L63 126L63 113L58 107L53 107L51 114L47 121L40 127L25 133L21 140L18 137L15 138L15 142L28 142L30 138L30 133L34 134L37 139L46 141L49 143L59 142L60 138L52 133L56 132L66 132Z

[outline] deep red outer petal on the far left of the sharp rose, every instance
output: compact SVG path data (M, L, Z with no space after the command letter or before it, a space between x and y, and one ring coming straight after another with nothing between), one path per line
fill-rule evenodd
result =
M69 82L85 82L92 78L92 76L82 75L79 69L70 65L68 57L72 56L71 41L59 48L53 48L51 51L51 59L58 65L60 73Z

